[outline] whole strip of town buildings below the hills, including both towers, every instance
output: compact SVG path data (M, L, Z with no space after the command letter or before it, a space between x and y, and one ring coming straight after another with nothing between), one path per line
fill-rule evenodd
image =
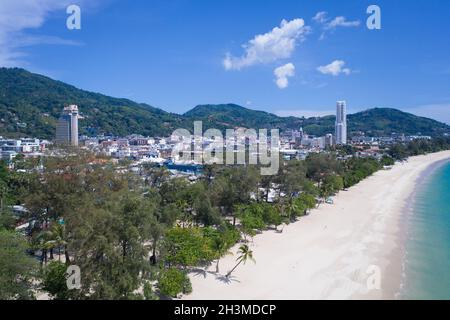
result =
M110 156L115 159L129 159L138 162L156 162L172 164L201 164L200 153L209 151L214 154L217 145L216 137L198 137L194 135L172 135L170 137L143 137L130 135L127 137L114 136L79 136L78 121L82 119L78 106L64 107L56 128L55 143L58 145L80 146L93 152ZM200 139L200 140L199 140ZM223 138L222 138L223 139ZM233 137L232 150L239 152L248 150L249 146L259 143L257 137L235 136ZM392 135L390 137L368 137L363 133L347 138L347 106L345 101L336 103L335 133L316 137L299 130L284 132L275 147L285 159L304 159L310 152L321 152L333 145L351 144L356 146L358 156L379 156L381 145L389 145L396 142L408 142L416 139L431 139L424 136ZM223 150L229 151L226 139L223 140ZM48 141L39 139L3 139L0 137L1 158L13 159L17 154L25 156L39 156L44 151ZM180 151L191 150L191 156L186 159ZM212 151L212 152L211 152Z

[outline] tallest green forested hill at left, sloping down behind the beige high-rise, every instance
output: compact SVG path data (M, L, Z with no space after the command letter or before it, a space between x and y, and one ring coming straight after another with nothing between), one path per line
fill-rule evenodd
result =
M0 135L52 138L67 104L80 107L82 133L169 134L184 125L181 116L146 104L80 90L23 69L0 69Z

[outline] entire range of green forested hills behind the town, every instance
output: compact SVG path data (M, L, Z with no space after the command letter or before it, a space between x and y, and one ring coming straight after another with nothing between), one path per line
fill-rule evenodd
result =
M200 105L178 115L147 104L112 98L75 88L23 69L0 68L0 135L53 138L56 119L64 105L77 104L84 116L81 133L110 133L148 136L168 135L177 128L192 130L192 122L203 121L204 128L303 127L310 134L334 132L334 116L318 118L279 117L235 104ZM395 109L376 108L351 114L349 131L370 135L405 133L440 135L450 127L435 120L417 117Z

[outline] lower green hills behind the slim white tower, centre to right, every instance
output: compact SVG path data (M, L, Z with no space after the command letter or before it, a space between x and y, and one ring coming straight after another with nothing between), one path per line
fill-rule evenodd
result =
M246 128L303 129L313 135L334 132L335 116L317 118L278 117L274 114L255 111L233 104L201 105L184 114L190 119L203 120L207 127L215 126ZM381 136L392 133L407 135L441 135L450 132L450 126L438 121L418 117L390 108L375 108L348 116L350 133L359 131L368 135Z

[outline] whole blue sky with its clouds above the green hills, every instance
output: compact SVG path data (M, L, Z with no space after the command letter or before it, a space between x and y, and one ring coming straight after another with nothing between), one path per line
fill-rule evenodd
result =
M69 4L81 30L66 28ZM381 30L366 27L371 4ZM311 116L345 99L450 123L449 12L447 0L2 0L0 65L177 113Z

